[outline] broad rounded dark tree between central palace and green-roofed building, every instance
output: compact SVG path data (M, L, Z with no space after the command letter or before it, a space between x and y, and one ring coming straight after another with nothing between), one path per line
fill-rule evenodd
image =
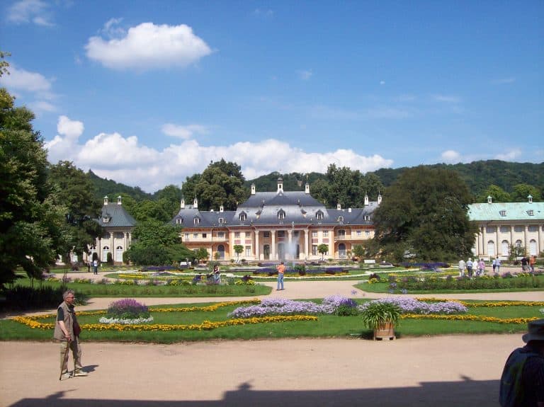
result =
M455 171L409 168L385 190L374 212L375 240L395 261L470 256L475 239L467 215L471 202L467 185Z

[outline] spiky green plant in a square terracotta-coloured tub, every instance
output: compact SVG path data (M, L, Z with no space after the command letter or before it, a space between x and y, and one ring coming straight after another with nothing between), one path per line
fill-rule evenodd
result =
M373 340L395 339L395 325L398 325L401 313L397 304L372 301L361 312L361 317L365 326L374 332Z

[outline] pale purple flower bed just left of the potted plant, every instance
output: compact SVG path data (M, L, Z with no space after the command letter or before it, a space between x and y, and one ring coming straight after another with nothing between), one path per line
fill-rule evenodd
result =
M311 301L293 301L283 298L266 298L259 305L239 306L229 314L230 318L251 318L266 315L334 314L339 306L356 307L353 299L331 295L322 304Z

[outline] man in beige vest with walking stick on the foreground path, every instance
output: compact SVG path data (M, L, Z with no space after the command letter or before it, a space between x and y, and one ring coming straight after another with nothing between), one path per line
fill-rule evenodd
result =
M54 338L60 340L60 379L72 377L68 372L68 350L74 358L74 376L86 376L81 366L81 346L79 345L79 323L74 311L74 291L66 290L62 294L64 301L57 308Z

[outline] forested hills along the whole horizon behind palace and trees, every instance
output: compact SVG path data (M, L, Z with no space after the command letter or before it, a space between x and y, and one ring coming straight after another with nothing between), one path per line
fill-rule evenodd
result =
M483 191L489 188L489 185L497 185L506 191L506 193L511 193L514 185L528 184L533 185L544 193L544 163L511 163L507 161L488 160L474 161L470 164L433 164L428 167L449 168L457 171L475 197L481 195ZM381 168L366 175L375 174L380 178L382 184L387 187L395 182L399 175L407 170L407 168ZM306 182L310 183L310 190L312 190L311 185L317 180L327 181L327 175L322 173L280 174L273 172L254 180L246 180L244 187L249 190L251 183L254 183L257 191L275 191L278 185L278 177L280 176L283 178L283 189L286 191L304 190ZM133 188L122 183L117 183L114 180L100 178L92 171L89 171L89 177L96 186L96 197L98 199L102 199L105 195L108 195L111 199L115 199L118 194L125 193L137 201L154 200L154 197L160 192L157 191L154 194L145 193L141 188Z

